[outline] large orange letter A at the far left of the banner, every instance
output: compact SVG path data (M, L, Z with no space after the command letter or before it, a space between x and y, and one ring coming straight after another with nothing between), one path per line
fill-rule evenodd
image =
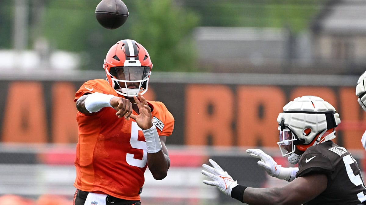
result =
M5 99L1 141L4 143L46 142L48 126L42 84L12 82Z

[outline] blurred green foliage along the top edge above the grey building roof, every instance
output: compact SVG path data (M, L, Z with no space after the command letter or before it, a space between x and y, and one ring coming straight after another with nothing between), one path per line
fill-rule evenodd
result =
M200 26L291 27L298 33L328 0L182 0L200 15Z

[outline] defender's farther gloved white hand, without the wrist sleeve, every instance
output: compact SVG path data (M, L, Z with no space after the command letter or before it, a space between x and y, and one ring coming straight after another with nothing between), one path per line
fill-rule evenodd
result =
M264 153L261 149L247 149L246 152L250 153L250 156L260 159L257 164L264 169L268 175L277 177L280 174L281 165L278 165L271 156Z

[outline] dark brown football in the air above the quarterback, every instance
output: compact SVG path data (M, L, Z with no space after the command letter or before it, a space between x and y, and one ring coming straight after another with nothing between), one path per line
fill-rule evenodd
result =
M126 22L128 10L121 0L102 0L95 9L95 16L104 28L117 29Z

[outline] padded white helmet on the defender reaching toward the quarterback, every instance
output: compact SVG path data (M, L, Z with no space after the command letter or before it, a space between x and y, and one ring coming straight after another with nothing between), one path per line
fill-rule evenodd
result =
M335 138L334 128L341 122L339 114L328 102L317 96L295 98L283 107L283 113L277 118L280 130L280 147L282 156L288 156L291 164L298 163L298 149L304 152L307 148ZM284 146L287 153L284 153Z

